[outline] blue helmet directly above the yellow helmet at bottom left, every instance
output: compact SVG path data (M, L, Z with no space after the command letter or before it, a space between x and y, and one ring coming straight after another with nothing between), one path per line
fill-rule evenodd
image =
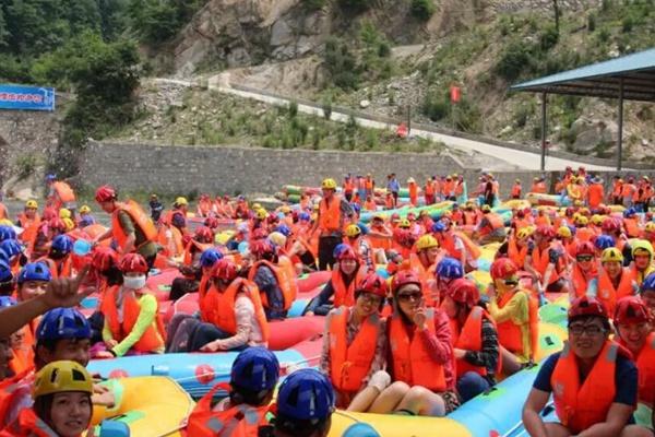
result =
M91 339L91 324L75 308L50 309L36 328L36 341L64 339Z

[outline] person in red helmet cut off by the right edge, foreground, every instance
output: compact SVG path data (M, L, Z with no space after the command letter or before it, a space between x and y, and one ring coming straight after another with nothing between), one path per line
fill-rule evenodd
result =
M627 296L618 300L614 311L614 323L618 341L632 353L639 370L635 420L651 432L655 425L655 332L654 317L639 296Z

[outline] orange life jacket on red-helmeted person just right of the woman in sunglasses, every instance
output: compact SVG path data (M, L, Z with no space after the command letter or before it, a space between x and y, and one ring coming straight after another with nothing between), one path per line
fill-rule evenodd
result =
M483 351L483 319L489 320L496 328L496 322L481 307L475 306L468 314L462 329L454 319L451 320L451 334L453 335L453 346L464 351ZM498 358L496 373L500 373L502 359ZM457 358L457 378L461 378L467 371L475 371L478 375L487 376L485 366L474 366L464 358Z

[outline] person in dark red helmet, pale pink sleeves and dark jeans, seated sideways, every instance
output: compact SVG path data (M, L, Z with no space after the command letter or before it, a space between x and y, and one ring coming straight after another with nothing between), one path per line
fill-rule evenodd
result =
M206 292L201 287L200 317L203 323L190 339L189 351L240 351L267 345L269 322L257 285L238 277L234 261L215 264Z

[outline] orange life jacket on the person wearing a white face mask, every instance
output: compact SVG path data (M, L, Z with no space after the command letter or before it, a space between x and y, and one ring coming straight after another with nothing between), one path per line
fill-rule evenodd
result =
M118 298L118 293L120 292L121 286L112 286L106 292L106 296L103 299L102 312L105 316L105 322L109 327L111 331L111 336L117 342L121 342L124 338L127 338L134 324L136 324L136 319L139 319L139 315L141 312L141 306L139 305L139 300L134 297L133 293L124 293L123 294L123 321L119 321L118 317L118 307L116 306L116 300ZM139 352L154 352L164 346L164 342L166 341L166 328L164 327L164 322L159 316L159 311L155 316L155 320L153 320L152 324L145 330L141 339L132 349Z

